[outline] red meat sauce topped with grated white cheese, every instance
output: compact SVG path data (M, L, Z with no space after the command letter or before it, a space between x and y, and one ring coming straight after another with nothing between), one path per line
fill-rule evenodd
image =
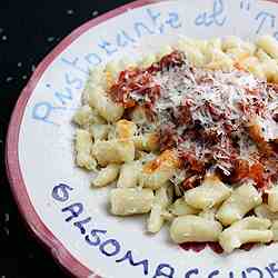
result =
M110 88L125 108L146 108L161 151L178 150L185 190L211 170L231 186L251 179L261 191L278 180L277 93L276 85L241 69L193 68L180 51L120 72Z

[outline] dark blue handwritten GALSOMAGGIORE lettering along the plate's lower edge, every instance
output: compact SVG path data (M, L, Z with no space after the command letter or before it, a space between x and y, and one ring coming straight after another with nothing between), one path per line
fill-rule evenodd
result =
M80 201L72 201L71 193L75 191L73 187L66 183L59 183L52 188L51 197L54 201L61 205L60 211L66 215L64 221L78 229L82 240L90 247L96 247L99 255L107 258L113 258L117 265L128 264L130 267L136 267L136 271L141 271L143 276L151 278L169 277L169 278L277 278L278 265L270 262L265 269L258 267L248 267L241 271L241 275L235 275L232 270L214 269L205 272L200 268L190 268L185 270L183 276L177 276L175 266L160 262L155 269L151 269L153 264L150 259L135 259L132 250L125 250L125 242L110 237L110 232L95 222L93 217L87 215L85 205Z

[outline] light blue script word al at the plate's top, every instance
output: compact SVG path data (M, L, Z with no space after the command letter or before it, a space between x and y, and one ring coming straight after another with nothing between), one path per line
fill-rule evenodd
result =
M224 1L215 0L212 12L206 11L198 14L198 17L195 20L195 24L210 27L215 23L216 26L222 27L227 21L227 17L224 13L225 13Z

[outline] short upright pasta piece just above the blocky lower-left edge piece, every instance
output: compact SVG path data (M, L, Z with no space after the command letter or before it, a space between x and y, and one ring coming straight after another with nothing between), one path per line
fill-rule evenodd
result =
M131 161L122 165L117 187L137 187L142 166L140 161Z

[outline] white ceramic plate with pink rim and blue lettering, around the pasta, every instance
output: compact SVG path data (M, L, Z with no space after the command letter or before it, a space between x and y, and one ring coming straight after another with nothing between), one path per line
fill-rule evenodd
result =
M7 170L20 211L53 257L77 277L278 277L278 245L217 255L185 251L143 219L107 212L107 189L92 190L75 167L71 117L93 68L140 57L177 40L236 34L278 39L278 6L256 0L139 0L89 21L38 67L14 109Z

